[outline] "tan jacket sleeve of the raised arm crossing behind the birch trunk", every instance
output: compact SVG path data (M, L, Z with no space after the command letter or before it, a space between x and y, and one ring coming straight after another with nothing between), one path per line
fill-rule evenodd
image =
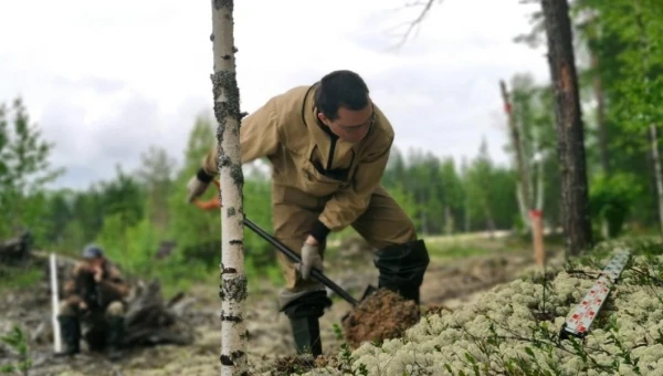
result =
M266 157L276 152L280 139L277 104L273 97L257 111L242 119L240 126L240 152L242 164ZM218 140L202 158L202 170L208 176L219 174L217 164Z

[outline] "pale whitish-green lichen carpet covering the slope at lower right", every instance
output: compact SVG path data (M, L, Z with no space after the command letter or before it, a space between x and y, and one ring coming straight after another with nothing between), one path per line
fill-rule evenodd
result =
M603 257L603 264L609 259ZM651 263L633 260L635 267ZM365 343L351 354L352 369L356 375L364 374L360 368L368 375L508 374L509 367L525 374L663 375L663 288L638 283L642 275L632 271L623 272L583 342L576 340L573 346L558 340L566 316L600 271L576 270L586 274L561 271L546 291L540 282L513 281L486 292L475 305L424 317L403 338L379 347ZM307 375L324 374L318 370Z

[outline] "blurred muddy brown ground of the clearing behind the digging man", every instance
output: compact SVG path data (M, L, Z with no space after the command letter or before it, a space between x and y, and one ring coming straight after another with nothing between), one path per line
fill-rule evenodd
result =
M377 271L367 253L336 259L326 274L359 299L364 289L377 283ZM495 284L511 281L530 269L530 251L495 252L463 259L433 258L421 290L422 305L454 309L470 304ZM275 362L294 355L294 345L287 318L277 312L277 286L267 283L253 292L246 303L245 320L250 333L249 361L256 373L274 368ZM101 354L83 354L74 358L53 358L51 332L51 301L48 282L30 292L3 293L0 296L0 333L11 325L28 328L32 357L30 375L219 375L220 324L217 286L198 285L188 292L196 302L187 314L197 331L192 345L159 345L133 349L119 362L112 363ZM341 327L341 317L350 305L338 296L320 320L323 351L337 355L343 341L337 338L335 325ZM352 342L352 338L349 338ZM15 355L0 345L0 366L15 361ZM275 374L276 375L276 374Z

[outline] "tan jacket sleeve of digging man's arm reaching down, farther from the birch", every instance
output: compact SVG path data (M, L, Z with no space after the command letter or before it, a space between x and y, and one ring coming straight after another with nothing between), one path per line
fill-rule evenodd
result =
M389 137L388 142L383 143L381 147L376 148L373 153L359 161L352 184L336 192L327 201L318 218L318 223L314 224L314 232L319 233L320 224L326 227L322 230L323 232L340 230L352 223L366 211L372 192L380 185L392 143L393 137ZM326 236L326 233L322 234Z

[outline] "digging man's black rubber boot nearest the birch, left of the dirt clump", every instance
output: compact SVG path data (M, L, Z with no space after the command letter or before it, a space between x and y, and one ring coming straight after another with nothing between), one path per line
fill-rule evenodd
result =
M283 311L293 328L297 354L323 354L320 326L318 318L325 313L325 307L332 305L325 291L315 291L288 303Z

